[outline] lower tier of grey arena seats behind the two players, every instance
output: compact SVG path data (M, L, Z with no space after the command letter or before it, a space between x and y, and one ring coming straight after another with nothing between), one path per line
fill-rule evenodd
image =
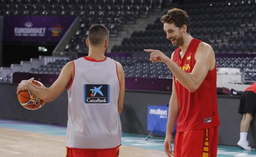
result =
M163 63L153 64L149 57L112 57L123 65L126 77L172 78L169 68ZM256 57L216 57L217 67L240 68L245 73L245 80L256 80ZM69 60L55 60L38 68L32 68L29 73L59 74ZM14 72L14 71L13 71ZM24 71L25 72L25 71ZM11 74L1 77L0 82L11 82Z

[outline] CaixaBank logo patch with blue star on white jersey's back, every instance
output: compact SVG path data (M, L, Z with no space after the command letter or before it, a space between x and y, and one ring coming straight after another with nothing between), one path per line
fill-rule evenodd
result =
M110 85L84 84L84 102L87 104L110 103Z

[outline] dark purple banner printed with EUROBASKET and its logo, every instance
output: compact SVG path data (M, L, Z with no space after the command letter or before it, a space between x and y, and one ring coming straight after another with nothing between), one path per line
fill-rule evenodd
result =
M74 20L70 16L7 16L4 41L59 42Z

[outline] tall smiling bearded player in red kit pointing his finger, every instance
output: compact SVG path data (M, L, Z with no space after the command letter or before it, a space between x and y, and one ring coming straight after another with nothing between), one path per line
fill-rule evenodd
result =
M161 22L167 39L178 48L171 59L159 50L150 61L165 62L173 73L172 94L165 137L168 157L216 157L219 115L216 61L212 47L190 35L190 20L181 9L171 9ZM174 151L171 132L177 121Z

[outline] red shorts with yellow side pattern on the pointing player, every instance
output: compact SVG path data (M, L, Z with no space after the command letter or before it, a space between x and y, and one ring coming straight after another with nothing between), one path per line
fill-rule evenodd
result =
M218 127L177 132L174 157L217 157Z

